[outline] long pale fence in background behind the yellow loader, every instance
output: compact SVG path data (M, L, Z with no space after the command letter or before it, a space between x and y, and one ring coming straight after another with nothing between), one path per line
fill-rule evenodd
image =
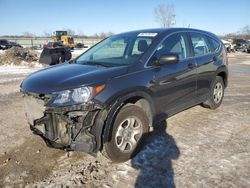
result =
M15 38L15 37L5 37L12 42L16 42L23 47L42 47L44 44L51 42L51 38L47 37L27 37L27 38ZM93 46L97 42L99 42L100 38L74 38L74 42L76 43L83 43L85 46Z

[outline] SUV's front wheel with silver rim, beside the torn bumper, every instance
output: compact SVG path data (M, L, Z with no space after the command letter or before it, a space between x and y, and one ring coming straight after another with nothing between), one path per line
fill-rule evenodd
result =
M107 134L102 153L113 162L124 162L135 156L149 131L146 113L137 105L128 105L118 112Z

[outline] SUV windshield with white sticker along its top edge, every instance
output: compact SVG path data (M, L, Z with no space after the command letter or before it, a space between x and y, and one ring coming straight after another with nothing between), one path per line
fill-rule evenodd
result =
M109 37L82 54L76 63L103 66L132 64L146 52L156 35L135 33Z

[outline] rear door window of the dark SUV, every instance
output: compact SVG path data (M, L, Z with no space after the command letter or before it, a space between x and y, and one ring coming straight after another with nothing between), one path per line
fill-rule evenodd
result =
M200 33L191 33L191 41L195 56L202 56L210 53L206 37Z

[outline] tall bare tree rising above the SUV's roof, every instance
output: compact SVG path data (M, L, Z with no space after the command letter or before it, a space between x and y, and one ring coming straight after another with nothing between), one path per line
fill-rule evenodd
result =
M173 4L160 4L155 10L155 20L162 27L171 27L175 25L175 10Z

